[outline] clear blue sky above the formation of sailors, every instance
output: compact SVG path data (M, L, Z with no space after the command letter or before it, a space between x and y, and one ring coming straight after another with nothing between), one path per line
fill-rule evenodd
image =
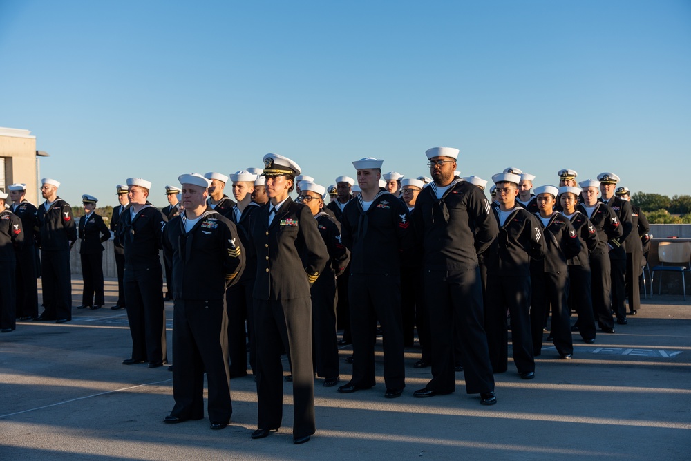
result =
M439 145L464 176L691 194L691 1L0 0L0 66L0 126L73 205L267 152L429 176Z

